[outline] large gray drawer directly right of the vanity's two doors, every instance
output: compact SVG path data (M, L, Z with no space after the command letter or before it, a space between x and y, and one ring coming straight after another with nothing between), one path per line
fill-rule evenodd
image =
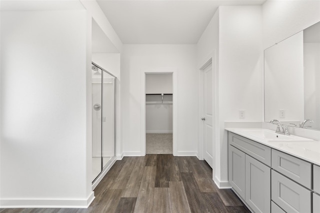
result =
M311 191L274 170L271 171L271 200L285 212L311 212Z

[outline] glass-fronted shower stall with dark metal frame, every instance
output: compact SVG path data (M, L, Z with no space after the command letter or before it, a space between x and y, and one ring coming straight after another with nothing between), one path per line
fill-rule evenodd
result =
M92 183L115 160L115 77L92 62Z

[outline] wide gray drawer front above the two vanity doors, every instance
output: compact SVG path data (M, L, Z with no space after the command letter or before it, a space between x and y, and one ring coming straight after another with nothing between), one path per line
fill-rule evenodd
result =
M264 146L255 141L251 141L247 138L233 134L231 132L229 132L229 135L228 135L228 142L230 145L245 152L249 156L262 162L263 164L267 166L271 166L271 148L270 147Z

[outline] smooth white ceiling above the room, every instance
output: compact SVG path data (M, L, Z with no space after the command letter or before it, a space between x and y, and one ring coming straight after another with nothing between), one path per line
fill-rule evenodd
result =
M97 0L124 44L195 44L220 5L265 0Z

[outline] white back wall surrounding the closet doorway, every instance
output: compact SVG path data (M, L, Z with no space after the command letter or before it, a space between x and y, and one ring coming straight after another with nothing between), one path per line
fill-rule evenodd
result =
M123 45L121 56L121 139L125 155L144 155L141 139L141 75L175 70L177 81L177 155L197 152L198 76L195 45ZM174 79L173 79L174 84ZM174 86L174 85L173 85ZM174 143L174 142L173 142Z

